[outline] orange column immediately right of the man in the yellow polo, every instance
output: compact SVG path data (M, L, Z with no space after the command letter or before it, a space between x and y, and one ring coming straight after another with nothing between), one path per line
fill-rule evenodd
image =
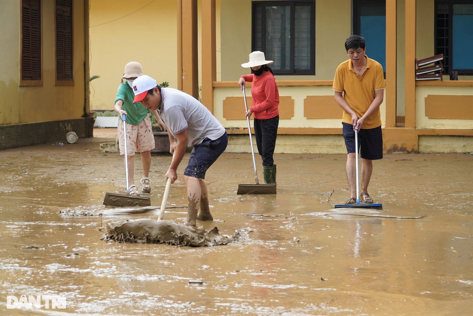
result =
M386 0L386 127L396 127L397 0Z

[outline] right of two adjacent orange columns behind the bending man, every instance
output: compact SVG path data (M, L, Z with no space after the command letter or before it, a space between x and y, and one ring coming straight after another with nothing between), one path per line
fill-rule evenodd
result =
M213 114L212 81L217 79L215 0L202 0L202 104Z

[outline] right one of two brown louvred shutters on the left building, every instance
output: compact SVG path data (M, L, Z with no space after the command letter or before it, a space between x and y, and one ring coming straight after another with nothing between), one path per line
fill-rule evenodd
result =
M72 0L56 0L56 80L72 81Z

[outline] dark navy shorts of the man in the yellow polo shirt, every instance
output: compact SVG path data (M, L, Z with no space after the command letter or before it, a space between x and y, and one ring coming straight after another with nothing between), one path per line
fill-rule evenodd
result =
M342 122L343 138L347 153L355 152L355 131L353 125ZM383 158L383 132L381 126L375 128L361 129L358 131L358 152L360 157L368 160Z

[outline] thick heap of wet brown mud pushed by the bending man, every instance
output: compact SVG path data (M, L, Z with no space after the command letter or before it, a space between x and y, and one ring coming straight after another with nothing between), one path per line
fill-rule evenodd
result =
M201 247L227 245L238 237L239 233L220 235L217 227L206 231L203 227L188 227L172 220L128 219L108 223L107 233L102 239L121 243Z

